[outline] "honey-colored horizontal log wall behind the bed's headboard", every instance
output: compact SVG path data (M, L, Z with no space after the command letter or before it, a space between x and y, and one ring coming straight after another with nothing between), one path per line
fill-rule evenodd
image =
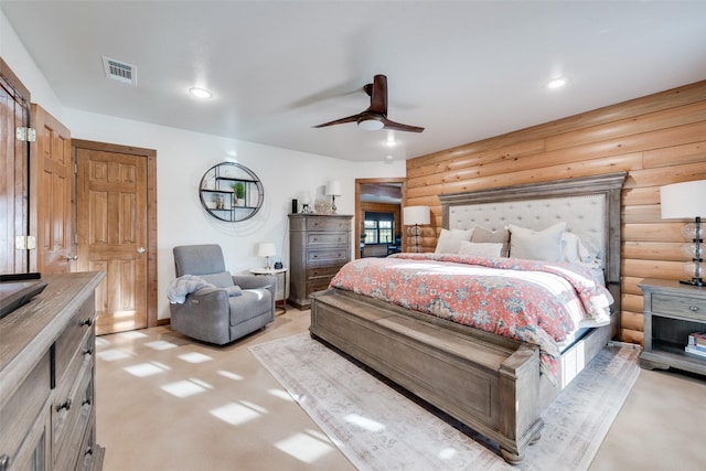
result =
M661 220L660 186L706 179L706 81L408 160L404 204L431 207L422 249L434 251L439 194L617 171L629 172L621 204L621 336L642 343L638 282L688 278L681 251L687 221Z

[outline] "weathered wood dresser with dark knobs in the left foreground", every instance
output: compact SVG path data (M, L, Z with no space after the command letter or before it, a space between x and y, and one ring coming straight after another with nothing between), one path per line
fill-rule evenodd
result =
M99 470L95 290L103 272L50 275L0 319L0 471Z

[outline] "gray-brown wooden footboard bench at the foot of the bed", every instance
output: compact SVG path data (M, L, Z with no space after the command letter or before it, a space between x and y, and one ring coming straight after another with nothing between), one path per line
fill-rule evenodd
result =
M539 436L539 351L389 303L330 289L311 296L320 338L522 461Z

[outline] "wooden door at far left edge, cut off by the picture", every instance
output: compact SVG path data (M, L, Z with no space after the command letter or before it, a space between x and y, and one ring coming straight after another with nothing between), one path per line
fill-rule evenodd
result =
M15 129L30 124L30 92L0 57L0 274L29 270L28 250L15 237L29 235L29 142Z

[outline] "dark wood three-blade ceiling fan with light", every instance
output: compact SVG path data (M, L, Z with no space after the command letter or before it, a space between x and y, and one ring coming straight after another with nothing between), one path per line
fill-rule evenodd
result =
M393 129L396 131L421 132L424 128L417 126L403 125L387 119L387 77L375 75L372 84L366 84L363 90L371 97L371 106L363 113L324 122L314 128L325 128L327 126L342 125L344 122L357 122L361 129L376 131L378 129Z

